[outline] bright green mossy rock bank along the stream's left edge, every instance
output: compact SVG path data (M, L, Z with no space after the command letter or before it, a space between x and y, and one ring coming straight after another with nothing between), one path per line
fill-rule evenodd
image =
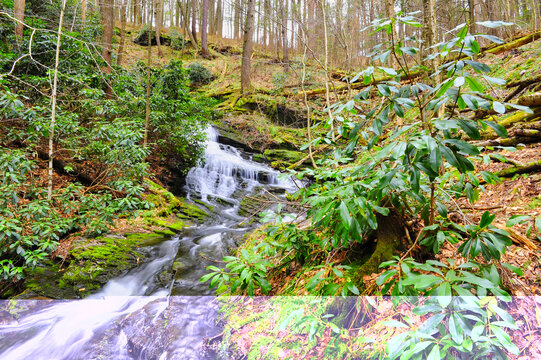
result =
M154 208L124 219L111 234L99 237L75 235L63 261L47 261L25 280L18 298L85 297L110 279L145 262L145 248L159 245L185 227L203 222L208 213L186 199L176 197L159 184L147 180L146 200Z

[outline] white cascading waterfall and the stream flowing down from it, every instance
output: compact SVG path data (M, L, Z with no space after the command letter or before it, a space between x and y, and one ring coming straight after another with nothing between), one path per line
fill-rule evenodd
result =
M0 303L0 359L215 359L204 339L221 332L214 291L199 279L251 229L241 199L294 184L218 143L213 128L204 165L186 177L188 198L206 204L211 220L151 249L152 259L110 280L83 300Z

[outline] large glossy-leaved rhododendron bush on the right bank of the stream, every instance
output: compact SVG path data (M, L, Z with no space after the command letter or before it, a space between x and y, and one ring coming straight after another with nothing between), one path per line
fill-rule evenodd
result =
M374 22L372 28L390 34L396 23L421 26L413 17L399 14L391 21ZM482 189L481 182L499 181L489 172L475 173L472 159L480 149L464 141L464 136L480 139L480 131L487 128L507 136L501 125L472 120L460 111L494 110L502 114L507 107L531 110L503 104L487 95L486 89L502 80L484 75L491 69L477 59L478 39L483 35L470 34L467 25L455 31L455 37L440 44L425 65L409 67L420 52L414 38L402 40L399 46L387 42L376 47L371 54L372 65L357 75L369 86L355 99L334 105L336 123L331 124L333 120L329 119L327 136L312 142L332 145L332 156L320 160L316 169L295 173L300 179L315 179L313 185L291 196L299 205L306 205L310 225L285 221L294 215L279 207L263 219L272 220L263 236L248 242L237 256L225 257L225 269L209 266L210 273L201 281L210 281L211 287L226 295L289 294L294 289L293 295L304 291L346 296L370 294L363 276L385 269L377 278L375 292L401 296L405 302L409 301L407 296L426 296L424 304L413 310L426 320L420 328L413 323L392 325L409 330L385 339L384 354L351 353L342 348L345 357L395 359L402 354L401 358L461 358L492 354L504 358L506 351L518 354L505 333L505 328L516 326L499 305L509 300L509 294L496 268L511 245L510 234L492 225L495 215L488 211L478 223L456 222L449 217L449 204L462 197L473 204ZM385 67L390 59L400 59L400 67ZM429 73L431 59L440 62L439 76L401 81L412 79L412 72ZM378 81L374 76L377 71L391 79ZM374 94L382 100L372 102ZM359 113L361 107L367 110ZM334 141L338 136L345 139L344 143ZM377 242L371 245L374 238ZM435 260L446 243L457 244L462 256L459 263ZM395 256L399 252L403 255ZM339 260L344 258L349 260ZM504 266L520 272L511 265ZM277 283L283 272L289 274L288 279L285 284ZM489 294L499 298L486 297ZM341 332L336 325L329 325L325 312L306 312L304 305L297 310L286 308L289 316L281 322L282 330L300 331L309 339L319 331L323 336L329 326L333 332ZM358 309L357 314L362 311ZM227 320L232 327L240 321L233 313ZM264 343L258 345L270 346L265 339L260 338ZM277 336L277 350L286 348L284 341ZM248 358L258 356L248 354Z

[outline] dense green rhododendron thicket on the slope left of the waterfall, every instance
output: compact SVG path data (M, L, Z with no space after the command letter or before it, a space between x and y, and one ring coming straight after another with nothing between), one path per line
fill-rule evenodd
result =
M189 94L188 70L181 62L152 68L145 148L147 68L138 63L104 75L101 49L88 46L101 33L92 16L83 30L67 31L62 38L53 191L47 200L46 144L52 131L47 94L56 48L56 34L47 29L57 24L43 20L52 16L38 15L54 13L57 6L36 9L36 17L27 19L36 32L19 45L13 22L0 18L0 68L9 73L0 78L0 290L24 278L71 234L97 236L116 219L156 206L152 194L144 195L149 163L167 160L170 171L185 173L199 161L203 130L215 117L213 101ZM30 45L32 57L24 56ZM111 84L112 98L104 81ZM158 216L175 211L185 220L205 216L176 199L166 201ZM178 231L182 223L166 227Z

